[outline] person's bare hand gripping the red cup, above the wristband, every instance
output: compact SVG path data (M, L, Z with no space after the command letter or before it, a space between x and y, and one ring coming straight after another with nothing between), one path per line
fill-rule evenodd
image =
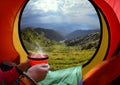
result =
M31 76L32 79L38 82L46 77L49 71L49 67L50 66L48 64L37 64L30 67L27 73Z

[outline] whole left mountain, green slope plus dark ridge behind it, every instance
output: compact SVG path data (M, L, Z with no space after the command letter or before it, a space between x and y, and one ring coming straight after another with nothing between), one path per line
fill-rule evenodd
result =
M52 33L50 35L50 33ZM49 38L48 38L49 37ZM52 39L50 39L52 38ZM29 51L36 51L42 47L50 47L57 43L57 40L62 39L58 36L58 33L53 30L47 30L43 28L27 27L21 30L21 40L24 47ZM51 50L49 49L46 49Z

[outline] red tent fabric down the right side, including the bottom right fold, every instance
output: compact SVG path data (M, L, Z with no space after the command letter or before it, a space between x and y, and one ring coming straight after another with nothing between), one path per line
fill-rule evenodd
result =
M108 85L120 74L120 53L111 58L120 44L120 0L93 0L102 10L110 32L107 59L86 74L85 85ZM103 28L104 29L104 28ZM104 37L104 36L103 36ZM110 59L110 60L109 60Z

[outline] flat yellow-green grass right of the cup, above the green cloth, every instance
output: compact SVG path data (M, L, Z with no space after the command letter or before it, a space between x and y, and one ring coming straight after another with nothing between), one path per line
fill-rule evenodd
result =
M59 70L85 64L94 54L95 50L81 50L68 52L49 52L51 70Z

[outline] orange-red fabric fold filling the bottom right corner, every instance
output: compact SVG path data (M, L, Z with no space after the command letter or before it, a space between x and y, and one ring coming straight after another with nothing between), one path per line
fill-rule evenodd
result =
M110 60L105 60L83 79L84 85L107 85L120 75L120 52Z

